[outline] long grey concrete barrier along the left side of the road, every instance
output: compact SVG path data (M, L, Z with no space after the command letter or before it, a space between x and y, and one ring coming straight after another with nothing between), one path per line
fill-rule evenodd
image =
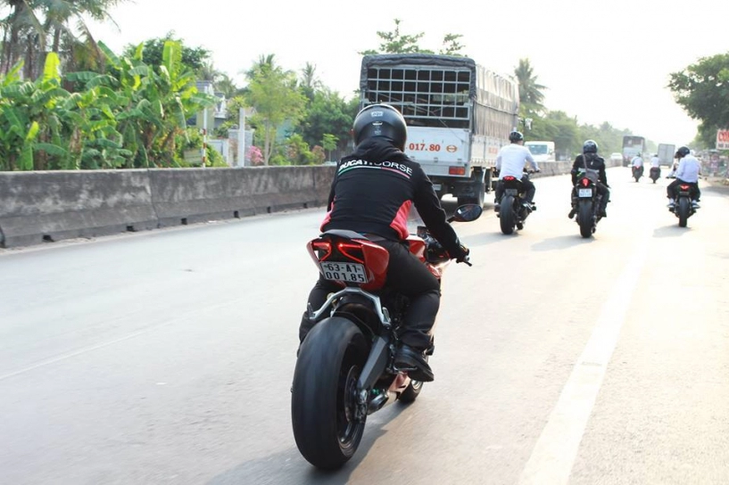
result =
M540 168L534 177L563 175L572 162ZM0 172L0 247L319 207L335 169Z

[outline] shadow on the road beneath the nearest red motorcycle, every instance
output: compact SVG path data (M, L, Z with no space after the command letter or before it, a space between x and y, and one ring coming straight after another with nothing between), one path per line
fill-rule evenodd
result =
M208 485L278 485L282 483L295 483L297 485L317 484L317 485L344 485L350 481L350 475L360 465L362 460L367 456L369 449L375 441L385 435L385 425L397 418L408 406L402 406L394 403L377 413L383 418L374 423L368 423L365 426L364 435L360 441L360 448L354 454L352 459L344 464L344 466L334 472L326 472L314 468L299 453L299 450L293 446L274 453L269 456L244 462L235 468L208 481ZM291 436L292 442L294 435Z

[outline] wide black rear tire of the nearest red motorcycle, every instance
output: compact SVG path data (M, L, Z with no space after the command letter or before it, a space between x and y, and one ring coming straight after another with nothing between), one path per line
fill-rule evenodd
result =
M360 328L338 316L319 322L302 342L291 421L296 446L317 468L340 468L360 446L367 415L354 417L355 390L368 351Z

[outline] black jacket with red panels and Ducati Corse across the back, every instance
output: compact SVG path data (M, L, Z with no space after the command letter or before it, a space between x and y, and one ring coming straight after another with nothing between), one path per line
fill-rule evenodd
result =
M337 163L321 230L347 229L403 241L413 205L451 258L460 258L458 236L418 162L382 138L369 138Z

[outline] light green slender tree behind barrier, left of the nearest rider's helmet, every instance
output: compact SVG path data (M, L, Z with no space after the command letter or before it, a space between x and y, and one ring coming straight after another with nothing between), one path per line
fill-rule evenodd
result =
M277 66L273 55L261 56L248 74L246 101L255 108L252 123L261 131L263 160L268 165L276 147L278 128L285 121L295 126L302 119L306 97L297 89L294 72Z

